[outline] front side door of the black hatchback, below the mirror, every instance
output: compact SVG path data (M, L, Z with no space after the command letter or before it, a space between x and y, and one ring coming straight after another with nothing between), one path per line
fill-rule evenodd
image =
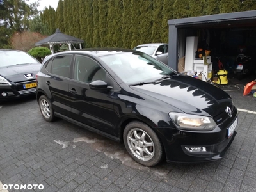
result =
M111 86L113 79L96 60L88 56L76 55L73 65L73 79L70 79L68 86L72 118L113 134L113 91L92 90L89 86L96 80L102 80Z

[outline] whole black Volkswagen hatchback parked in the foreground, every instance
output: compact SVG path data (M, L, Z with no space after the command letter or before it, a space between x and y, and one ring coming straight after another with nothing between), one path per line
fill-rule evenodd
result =
M220 159L236 135L237 109L209 83L130 49L48 56L36 96L48 122L60 117L116 141L140 164Z

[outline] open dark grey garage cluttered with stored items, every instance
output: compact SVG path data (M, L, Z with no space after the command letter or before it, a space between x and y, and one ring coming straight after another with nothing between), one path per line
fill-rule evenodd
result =
M168 26L168 65L175 70L202 72L203 80L220 69L238 79L255 76L256 10L173 19Z

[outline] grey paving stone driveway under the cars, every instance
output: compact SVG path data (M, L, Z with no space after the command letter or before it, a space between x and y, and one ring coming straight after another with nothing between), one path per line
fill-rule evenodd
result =
M242 84L223 89L249 110L239 111L225 157L154 168L134 163L120 143L64 120L45 122L33 97L0 102L0 181L44 185L31 191L256 191L256 99L242 96Z

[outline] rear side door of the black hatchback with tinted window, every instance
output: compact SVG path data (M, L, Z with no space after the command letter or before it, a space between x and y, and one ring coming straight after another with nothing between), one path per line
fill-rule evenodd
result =
M61 115L71 115L70 98L68 83L70 81L70 66L72 54L56 56L49 60L46 66L47 75L45 76L45 90L52 107L56 113Z

